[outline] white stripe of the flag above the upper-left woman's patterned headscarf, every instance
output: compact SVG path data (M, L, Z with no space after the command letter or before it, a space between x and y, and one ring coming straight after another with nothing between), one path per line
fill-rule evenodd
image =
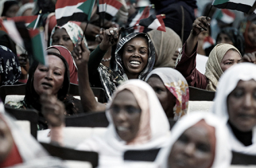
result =
M79 5L82 5L83 2L77 3L77 5L73 6L65 6L63 8L58 8L55 9L55 16L56 19L61 19L61 17L67 17L73 15L73 13L79 13L79 12L84 12L81 9L78 9Z

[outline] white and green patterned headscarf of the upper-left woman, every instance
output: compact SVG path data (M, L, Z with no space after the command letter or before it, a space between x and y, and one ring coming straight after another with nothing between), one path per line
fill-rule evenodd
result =
M53 45L53 34L55 33L56 29L62 29L62 28L66 30L67 34L69 35L69 38L71 39L74 45L77 43L78 40L81 40L83 37L84 32L80 28L80 26L78 26L73 22L67 22L67 24L63 26L55 26L55 28L53 28L53 31L51 33L51 38L50 38L50 46ZM85 37L84 37L84 42L87 46Z

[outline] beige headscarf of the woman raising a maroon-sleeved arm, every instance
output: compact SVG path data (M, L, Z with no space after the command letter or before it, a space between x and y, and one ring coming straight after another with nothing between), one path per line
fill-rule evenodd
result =
M218 44L212 49L205 67L205 77L209 80L206 90L216 91L218 81L223 73L220 62L222 62L224 55L230 49L234 49L240 54L239 50L230 44Z

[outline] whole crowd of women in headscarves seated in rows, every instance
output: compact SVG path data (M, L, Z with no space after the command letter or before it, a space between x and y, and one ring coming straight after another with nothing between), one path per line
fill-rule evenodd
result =
M118 1L123 7L104 29L96 12L90 24L57 26L53 1L45 0L49 7L0 1L1 19L44 10L49 62L29 62L26 50L0 30L0 86L26 83L24 99L5 106L38 110L38 131L51 129L51 142L61 146L65 116L106 112L106 132L76 147L97 152L98 167L145 166L125 161L129 150L160 149L147 167L161 168L230 167L232 151L256 155L255 15L245 15L239 28L219 23L214 40L216 18L196 15L200 1ZM166 32L122 32L135 7L150 3L166 14ZM198 54L208 56L205 74L197 70ZM78 85L80 99L69 95L70 83ZM189 113L189 86L216 91L212 110ZM98 102L91 87L104 89L107 103ZM176 122L171 130L169 120ZM67 167L23 134L0 101L0 167L12 166Z

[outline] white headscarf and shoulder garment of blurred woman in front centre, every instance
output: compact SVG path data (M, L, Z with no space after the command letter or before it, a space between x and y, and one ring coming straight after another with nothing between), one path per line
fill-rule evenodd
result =
M162 106L156 97L156 93L148 85L148 83L139 79L132 79L125 82L123 85L117 88L117 91L113 94L113 99L120 91L127 89L127 86L135 86L143 91L146 91L149 104L149 115L150 115L150 130L151 138L148 142L143 144L127 145L125 141L121 140L115 131L112 117L110 116L109 110L106 110L106 116L109 121L108 130L103 136L94 136L88 140L82 142L77 146L78 150L83 151L96 151L99 153L99 167L117 167L123 162L123 153L127 150L143 150L143 149L154 149L164 146L169 133L169 123L166 118L166 114L162 109ZM135 95L133 93L133 95ZM147 99L145 97L145 99ZM135 96L136 98L136 96ZM137 100L137 98L136 98ZM138 100L137 100L138 101ZM108 109L111 106L112 101L108 103ZM139 103L138 103L139 104ZM141 106L140 106L141 107ZM143 115L143 110L141 116ZM141 118L143 120L143 118ZM141 122L140 122L141 123Z

